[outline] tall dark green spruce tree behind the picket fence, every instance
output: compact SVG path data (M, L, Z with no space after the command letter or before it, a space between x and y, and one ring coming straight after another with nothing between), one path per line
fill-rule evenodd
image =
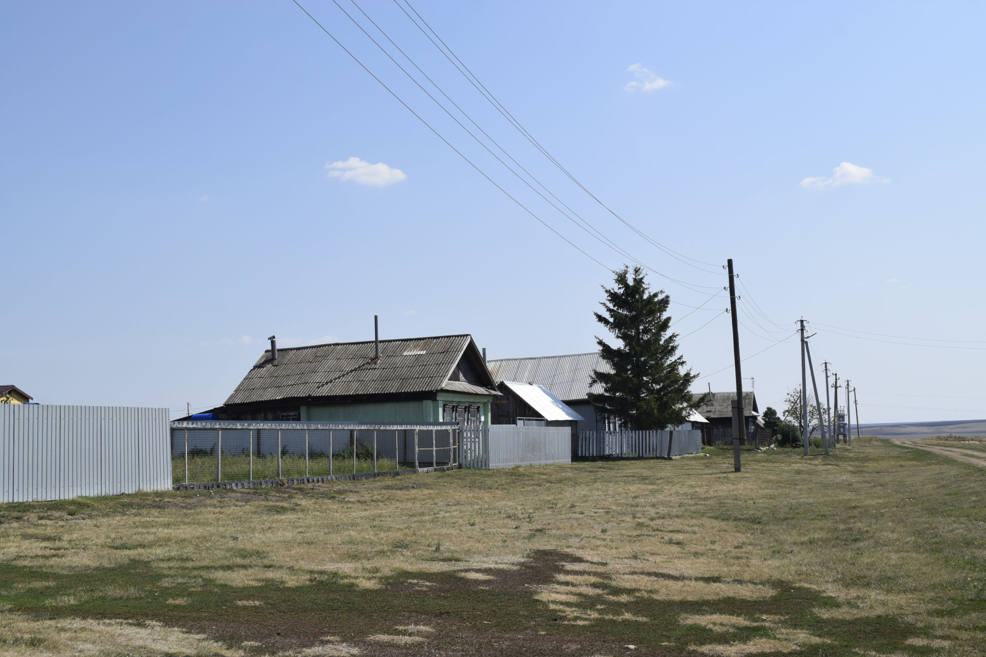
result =
M605 314L595 313L596 319L620 344L610 346L597 336L599 356L612 371L593 370L592 382L601 384L602 392L589 393L589 401L624 427L664 429L685 422L697 405L690 388L698 374L677 356L678 336L669 333L669 296L651 292L644 279L640 267L623 267L615 285L602 288Z

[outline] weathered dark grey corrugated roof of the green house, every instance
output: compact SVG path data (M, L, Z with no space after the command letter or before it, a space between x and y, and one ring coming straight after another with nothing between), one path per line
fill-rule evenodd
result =
M376 364L372 362L372 340L278 349L277 364L271 363L270 350L265 350L226 403L434 392L450 389L446 387L450 383L467 386L451 388L459 392L498 394L464 381L449 381L466 349L482 361L468 335L381 340Z

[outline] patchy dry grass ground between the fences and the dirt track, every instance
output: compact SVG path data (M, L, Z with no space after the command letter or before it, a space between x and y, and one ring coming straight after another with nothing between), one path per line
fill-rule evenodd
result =
M0 654L982 654L982 469L711 452L3 505Z

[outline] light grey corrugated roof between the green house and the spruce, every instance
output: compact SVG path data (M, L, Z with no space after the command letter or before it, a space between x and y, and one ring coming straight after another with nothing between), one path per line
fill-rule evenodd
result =
M588 399L590 391L601 392L599 384L590 386L593 370L610 371L599 352L543 356L531 359L501 359L486 363L497 382L538 383L562 401Z

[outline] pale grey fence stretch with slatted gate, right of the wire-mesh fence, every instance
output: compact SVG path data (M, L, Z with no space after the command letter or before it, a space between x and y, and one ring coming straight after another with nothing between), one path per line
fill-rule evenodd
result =
M462 467L479 470L572 462L569 427L464 427Z

